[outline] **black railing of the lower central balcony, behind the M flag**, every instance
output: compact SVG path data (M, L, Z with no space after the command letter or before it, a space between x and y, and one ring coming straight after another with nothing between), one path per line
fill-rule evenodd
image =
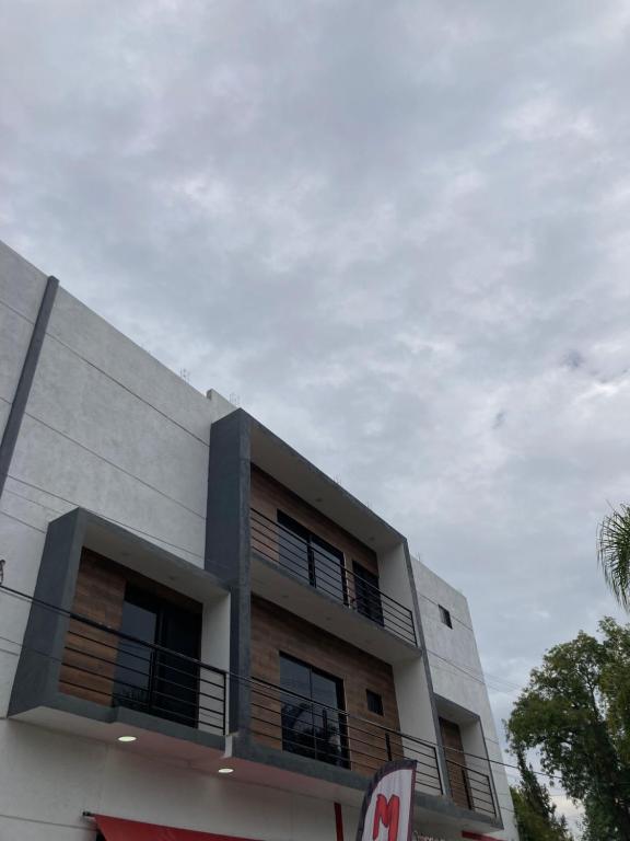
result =
M345 710L253 679L250 729L268 747L371 776L384 762L413 759L416 785L443 794L434 745Z

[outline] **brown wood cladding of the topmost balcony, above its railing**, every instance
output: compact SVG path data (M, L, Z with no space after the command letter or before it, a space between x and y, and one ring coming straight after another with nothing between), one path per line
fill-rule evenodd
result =
M340 550L348 572L352 572L352 562L357 562L374 575L378 575L378 562L374 550L255 465L252 465L252 508L260 511L272 523L277 521L279 510L288 514L308 531ZM272 526L270 534L275 541ZM256 546L256 540L253 540L253 545ZM275 554L269 544L265 545L264 554L267 556ZM354 596L352 581L352 576L349 576L348 589L351 598Z

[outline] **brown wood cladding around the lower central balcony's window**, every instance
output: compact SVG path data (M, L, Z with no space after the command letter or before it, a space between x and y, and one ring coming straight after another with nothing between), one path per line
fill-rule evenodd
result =
M253 596L253 677L279 686L281 653L343 681L346 711L368 723L353 723L348 719L351 768L359 773L373 774L376 768L388 759L385 731L381 728L398 730L400 727L394 675L389 664L322 631L277 604ZM381 695L383 715L377 715L368 707L368 689ZM255 683L252 703L252 729L256 738L269 747L282 749L280 692L267 687L257 689ZM390 747L394 758L400 758L401 742L395 734L390 737Z

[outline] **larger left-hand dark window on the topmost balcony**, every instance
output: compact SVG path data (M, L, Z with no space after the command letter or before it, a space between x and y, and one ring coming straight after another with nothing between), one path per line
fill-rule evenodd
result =
M347 603L343 553L278 511L280 564L322 592Z

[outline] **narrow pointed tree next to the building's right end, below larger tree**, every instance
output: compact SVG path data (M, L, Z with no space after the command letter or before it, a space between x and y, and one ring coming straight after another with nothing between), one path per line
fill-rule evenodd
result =
M532 765L525 761L525 751L516 748L521 772L518 786L510 788L514 816L521 841L572 841L565 818L556 815L556 806L547 788L539 782Z

